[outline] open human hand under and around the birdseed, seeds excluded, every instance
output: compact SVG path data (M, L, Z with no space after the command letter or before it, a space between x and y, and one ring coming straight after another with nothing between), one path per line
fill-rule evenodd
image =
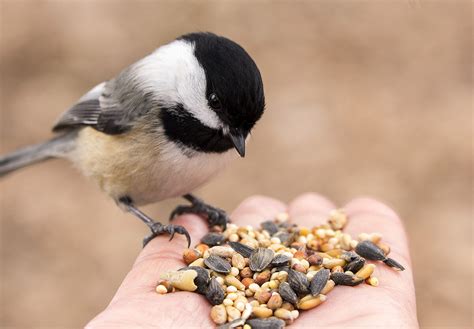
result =
M334 208L332 202L312 193L297 197L288 206L275 199L253 196L237 207L231 219L239 226L259 226L260 222L287 211L292 222L313 227L325 222ZM369 198L355 199L343 208L349 216L347 233L352 236L361 232L382 233L383 240L391 246L390 257L406 270L398 272L377 263L378 287L338 286L322 305L301 312L291 328L418 328L412 266L400 219L393 210ZM205 221L195 215L181 216L175 221L188 229L194 244L208 231ZM209 317L211 305L205 297L190 292L166 295L155 292L161 273L184 266L184 248L181 236L171 242L166 236L151 241L141 251L110 304L87 327L214 327Z

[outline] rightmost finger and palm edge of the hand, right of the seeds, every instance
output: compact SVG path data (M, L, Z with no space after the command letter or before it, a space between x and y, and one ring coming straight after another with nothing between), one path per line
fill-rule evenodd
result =
M362 232L381 233L383 241L391 246L389 257L402 263L405 271L373 262L377 266L373 276L379 279L379 286L336 287L318 307L317 311L325 317L318 321L317 327L417 327L413 275L401 220L392 209L370 198L355 199L344 209L349 218L344 231L355 239ZM312 325L314 316L305 312L298 320L296 327Z

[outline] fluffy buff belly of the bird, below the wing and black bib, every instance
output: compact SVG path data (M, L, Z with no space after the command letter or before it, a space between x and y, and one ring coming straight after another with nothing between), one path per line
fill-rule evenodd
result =
M191 192L235 158L232 150L187 157L176 145L160 145L144 134L110 136L89 127L77 141L71 159L83 174L115 200L129 196L136 204Z

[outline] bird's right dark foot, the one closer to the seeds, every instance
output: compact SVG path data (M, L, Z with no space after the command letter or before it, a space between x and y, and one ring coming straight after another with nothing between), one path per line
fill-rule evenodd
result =
M222 209L210 206L201 199L195 197L192 194L185 194L183 198L191 202L189 206L177 206L170 215L170 221L173 220L176 216L182 214L196 214L203 218L206 218L209 227L214 227L216 225L221 226L223 230L226 229L227 223L229 222L229 217L226 212Z

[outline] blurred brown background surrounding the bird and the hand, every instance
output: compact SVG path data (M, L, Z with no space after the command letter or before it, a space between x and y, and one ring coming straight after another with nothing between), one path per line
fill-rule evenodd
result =
M267 112L245 161L198 191L359 195L403 217L421 325L472 326L470 1L1 2L1 152L51 136L98 82L189 31L242 44ZM101 311L145 227L64 161L1 188L1 324L77 327ZM145 208L166 218L180 200Z

